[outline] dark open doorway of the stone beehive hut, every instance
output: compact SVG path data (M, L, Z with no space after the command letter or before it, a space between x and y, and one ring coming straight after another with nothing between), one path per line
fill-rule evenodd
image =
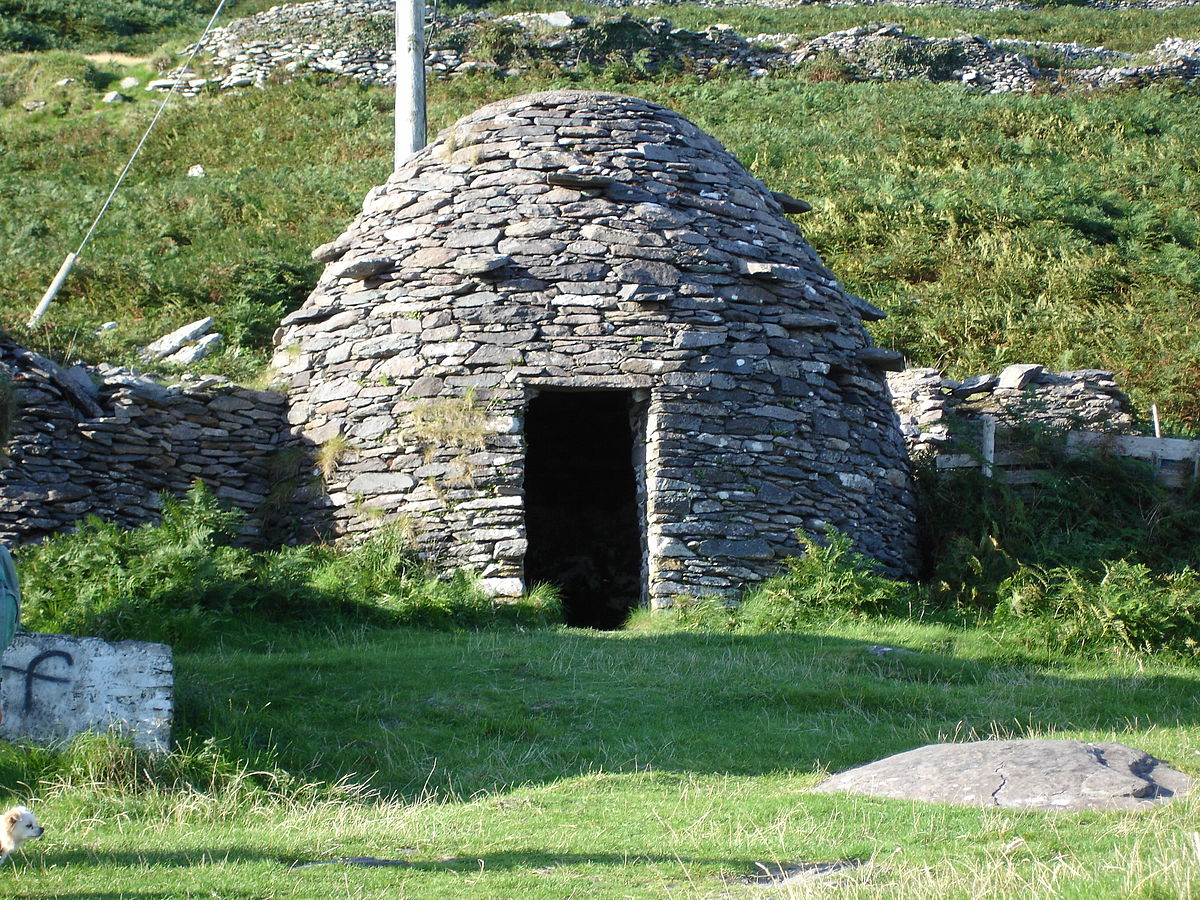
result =
M526 583L562 590L566 623L619 628L641 599L632 391L544 391L526 412Z

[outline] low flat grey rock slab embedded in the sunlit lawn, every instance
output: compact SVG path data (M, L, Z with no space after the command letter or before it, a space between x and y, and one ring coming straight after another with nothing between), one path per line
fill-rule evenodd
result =
M841 772L814 790L964 806L1144 809L1186 793L1192 781L1124 744L978 740L908 750Z

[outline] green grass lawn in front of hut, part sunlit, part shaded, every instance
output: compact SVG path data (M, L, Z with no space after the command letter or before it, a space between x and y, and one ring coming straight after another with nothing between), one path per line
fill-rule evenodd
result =
M290 779L36 785L47 836L0 880L19 898L1188 896L1200 797L1048 815L808 788L988 736L1115 739L1200 775L1198 688L1190 666L887 622L295 636L178 659L181 732ZM367 856L406 865L289 869ZM742 881L834 860L865 864L824 886Z

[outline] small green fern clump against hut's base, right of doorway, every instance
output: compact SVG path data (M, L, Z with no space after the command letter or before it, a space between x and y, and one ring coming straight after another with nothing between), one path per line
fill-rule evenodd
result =
M754 631L794 631L817 622L907 613L916 594L911 584L878 572L874 560L851 550L835 529L826 542L799 535L804 556L785 562L785 571L752 589L738 624Z

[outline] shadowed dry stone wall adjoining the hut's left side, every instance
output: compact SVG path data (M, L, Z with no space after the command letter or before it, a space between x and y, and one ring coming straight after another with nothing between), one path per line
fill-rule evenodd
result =
M37 540L84 516L137 526L157 518L160 493L182 494L197 480L259 528L283 445L282 394L67 370L8 341L0 376L14 407L0 456L0 541Z

